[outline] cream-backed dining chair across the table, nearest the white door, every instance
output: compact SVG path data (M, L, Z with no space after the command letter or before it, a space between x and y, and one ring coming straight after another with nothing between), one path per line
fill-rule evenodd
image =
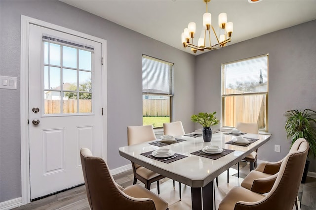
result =
M154 132L153 125L143 125L143 126L127 126L127 144L134 145L147 141L156 140L156 135ZM164 176L157 174L143 166L140 166L132 162L134 181L136 184L137 180L140 180L145 184L145 188L150 190L151 183L157 181L157 190L159 190L159 180L165 178Z

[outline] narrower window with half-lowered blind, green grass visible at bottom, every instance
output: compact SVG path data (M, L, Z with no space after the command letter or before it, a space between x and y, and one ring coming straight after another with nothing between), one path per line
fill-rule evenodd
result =
M143 125L171 122L173 63L143 55Z

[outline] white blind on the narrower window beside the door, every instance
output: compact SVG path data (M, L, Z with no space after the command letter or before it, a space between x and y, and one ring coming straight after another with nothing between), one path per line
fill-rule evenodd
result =
M172 95L173 63L143 55L143 94Z

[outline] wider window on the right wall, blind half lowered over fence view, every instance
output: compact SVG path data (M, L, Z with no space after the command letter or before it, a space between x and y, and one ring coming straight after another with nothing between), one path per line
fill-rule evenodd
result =
M257 122L268 130L268 55L222 64L222 126Z

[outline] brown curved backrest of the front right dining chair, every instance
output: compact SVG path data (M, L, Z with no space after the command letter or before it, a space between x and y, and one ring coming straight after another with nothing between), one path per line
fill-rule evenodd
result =
M298 150L290 151L281 164L276 181L265 198L258 202L237 202L234 210L292 210L309 149L305 139L298 139Z

